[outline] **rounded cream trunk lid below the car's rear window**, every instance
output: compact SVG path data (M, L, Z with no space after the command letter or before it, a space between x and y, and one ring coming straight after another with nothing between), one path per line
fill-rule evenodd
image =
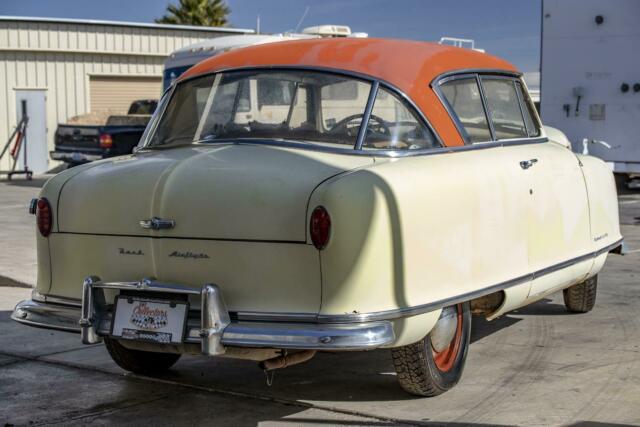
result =
M59 231L188 239L304 242L322 181L371 157L268 145L197 145L104 161L70 179ZM175 221L147 230L141 220Z

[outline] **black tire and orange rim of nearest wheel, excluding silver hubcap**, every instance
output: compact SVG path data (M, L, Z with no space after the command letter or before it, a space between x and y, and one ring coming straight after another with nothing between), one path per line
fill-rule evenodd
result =
M392 349L393 365L400 386L408 393L432 397L455 386L464 370L471 338L471 310L469 303L455 306L459 330L448 347L447 355L433 349L433 331L417 343ZM455 352L453 352L455 347Z

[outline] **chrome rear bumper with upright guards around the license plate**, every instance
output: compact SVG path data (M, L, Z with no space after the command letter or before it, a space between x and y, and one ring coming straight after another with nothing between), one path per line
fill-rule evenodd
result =
M190 316L184 342L200 344L205 355L219 356L225 347L258 347L309 350L367 350L395 340L392 323L303 323L232 321L220 289L213 284L201 289L144 279L139 282L84 281L82 304L71 305L36 299L19 303L11 318L31 326L79 332L84 344L102 341L111 331L112 313L105 290L161 292L200 296L199 318Z

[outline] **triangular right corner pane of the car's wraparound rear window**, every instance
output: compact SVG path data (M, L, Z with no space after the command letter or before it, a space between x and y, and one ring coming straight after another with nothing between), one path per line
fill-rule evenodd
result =
M418 150L439 146L433 133L405 103L384 88L378 90L364 149Z

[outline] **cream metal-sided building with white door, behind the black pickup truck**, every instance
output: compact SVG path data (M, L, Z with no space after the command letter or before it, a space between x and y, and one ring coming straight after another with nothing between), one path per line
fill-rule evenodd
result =
M135 99L158 98L162 67L176 49L253 30L112 21L0 16L0 150L27 101L28 164L49 159L58 123L109 109L126 113ZM9 167L9 156L0 169Z

